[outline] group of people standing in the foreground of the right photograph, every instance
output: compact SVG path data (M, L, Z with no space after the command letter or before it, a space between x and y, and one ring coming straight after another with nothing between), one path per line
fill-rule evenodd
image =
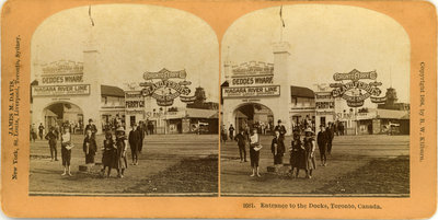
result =
M320 150L321 166L326 166L326 153L332 151L332 141L334 137L333 124L328 124L327 128L322 125L320 131L314 137L314 131L311 127L306 128L303 131L300 129L293 130L293 138L290 142L290 173L292 176L298 177L300 170L306 171L306 177L312 178L313 170L316 169L315 150L316 143ZM274 167L278 171L283 165L283 158L286 153L285 135L287 134L286 127L278 120L278 125L274 128L274 138L270 142L270 152L274 159ZM301 135L303 134L303 138ZM246 162L245 146L250 147L250 160L252 174L251 176L261 176L260 174L260 150L262 144L260 142L257 129L253 128L247 132L247 129L241 128L239 134L234 137L238 141L240 162ZM295 175L293 175L295 174Z

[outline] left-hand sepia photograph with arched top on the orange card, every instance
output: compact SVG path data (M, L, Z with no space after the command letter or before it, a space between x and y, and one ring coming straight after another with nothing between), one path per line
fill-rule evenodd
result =
M218 196L219 44L181 10L60 11L31 47L31 196Z

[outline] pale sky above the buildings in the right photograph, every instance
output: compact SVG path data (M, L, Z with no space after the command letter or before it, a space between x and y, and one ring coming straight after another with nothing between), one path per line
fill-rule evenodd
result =
M376 70L382 95L393 86L399 102L408 102L411 45L393 19L356 7L284 5L281 36L279 10L262 9L237 20L222 39L222 67L226 60L274 62L273 44L283 37L291 45L291 84L312 89L334 82L336 72Z

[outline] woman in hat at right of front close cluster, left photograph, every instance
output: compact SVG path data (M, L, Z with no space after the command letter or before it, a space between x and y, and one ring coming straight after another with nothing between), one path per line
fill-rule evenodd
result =
M117 176L123 178L125 169L128 167L128 161L126 160L128 140L125 136L125 129L122 126L116 129L116 148L117 157L114 166L117 169Z

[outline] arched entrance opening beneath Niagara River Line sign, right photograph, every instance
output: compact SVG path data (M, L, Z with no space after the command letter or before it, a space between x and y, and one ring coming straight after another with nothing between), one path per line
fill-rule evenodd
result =
M274 114L262 104L245 104L234 111L234 127L237 131L245 126L257 128L258 134L270 134L274 126Z

